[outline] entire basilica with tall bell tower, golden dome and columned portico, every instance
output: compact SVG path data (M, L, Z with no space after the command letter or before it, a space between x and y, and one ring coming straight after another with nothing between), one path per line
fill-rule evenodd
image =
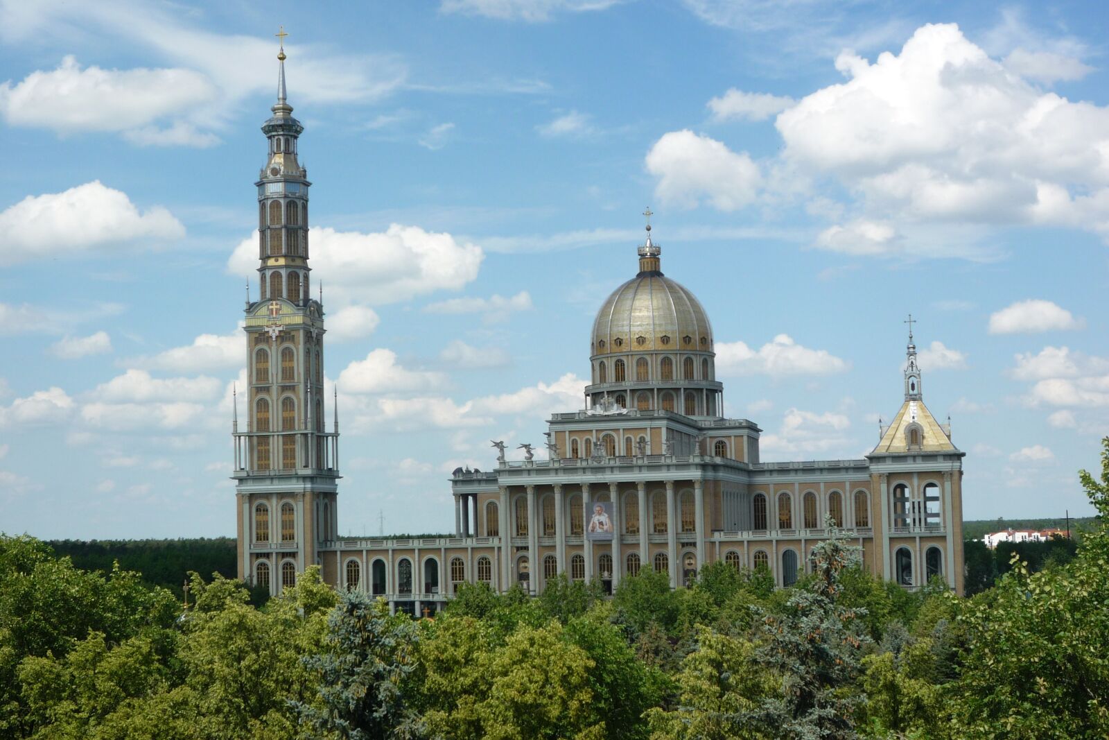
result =
M245 429L233 424L241 578L277 594L318 565L335 587L414 616L437 611L464 582L535 595L564 574L611 590L645 568L676 588L715 560L790 586L834 528L871 572L907 589L938 577L963 591L965 453L925 406L912 324L904 398L865 458L764 462L759 425L722 415L709 315L662 272L650 223L638 272L593 322L586 408L551 416L547 459L528 447L508 462L491 440L491 470L456 469L452 537L339 537L338 416L332 401L328 430L325 314L309 291L312 183L297 160L304 128L286 101L284 50L277 59L255 183Z

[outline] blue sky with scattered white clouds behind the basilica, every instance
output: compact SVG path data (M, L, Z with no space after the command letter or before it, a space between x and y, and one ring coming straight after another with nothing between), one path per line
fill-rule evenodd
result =
M1090 514L1109 16L989 4L0 0L0 529L234 531L278 23L344 533L451 529L454 467L581 405L648 204L764 459L868 452L912 312L965 516Z

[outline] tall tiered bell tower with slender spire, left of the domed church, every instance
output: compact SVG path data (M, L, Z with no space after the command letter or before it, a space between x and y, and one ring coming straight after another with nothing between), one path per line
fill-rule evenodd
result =
M335 540L338 415L326 430L324 310L309 292L308 189L297 161L304 126L285 91L285 33L277 102L258 193L258 300L247 301L245 429L235 395L238 576L279 594ZM321 296L322 297L322 296Z

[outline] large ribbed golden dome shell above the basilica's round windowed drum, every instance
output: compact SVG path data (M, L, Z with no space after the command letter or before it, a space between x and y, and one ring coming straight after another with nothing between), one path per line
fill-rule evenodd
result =
M601 305L590 354L712 352L712 325L701 302L657 270L642 271Z

